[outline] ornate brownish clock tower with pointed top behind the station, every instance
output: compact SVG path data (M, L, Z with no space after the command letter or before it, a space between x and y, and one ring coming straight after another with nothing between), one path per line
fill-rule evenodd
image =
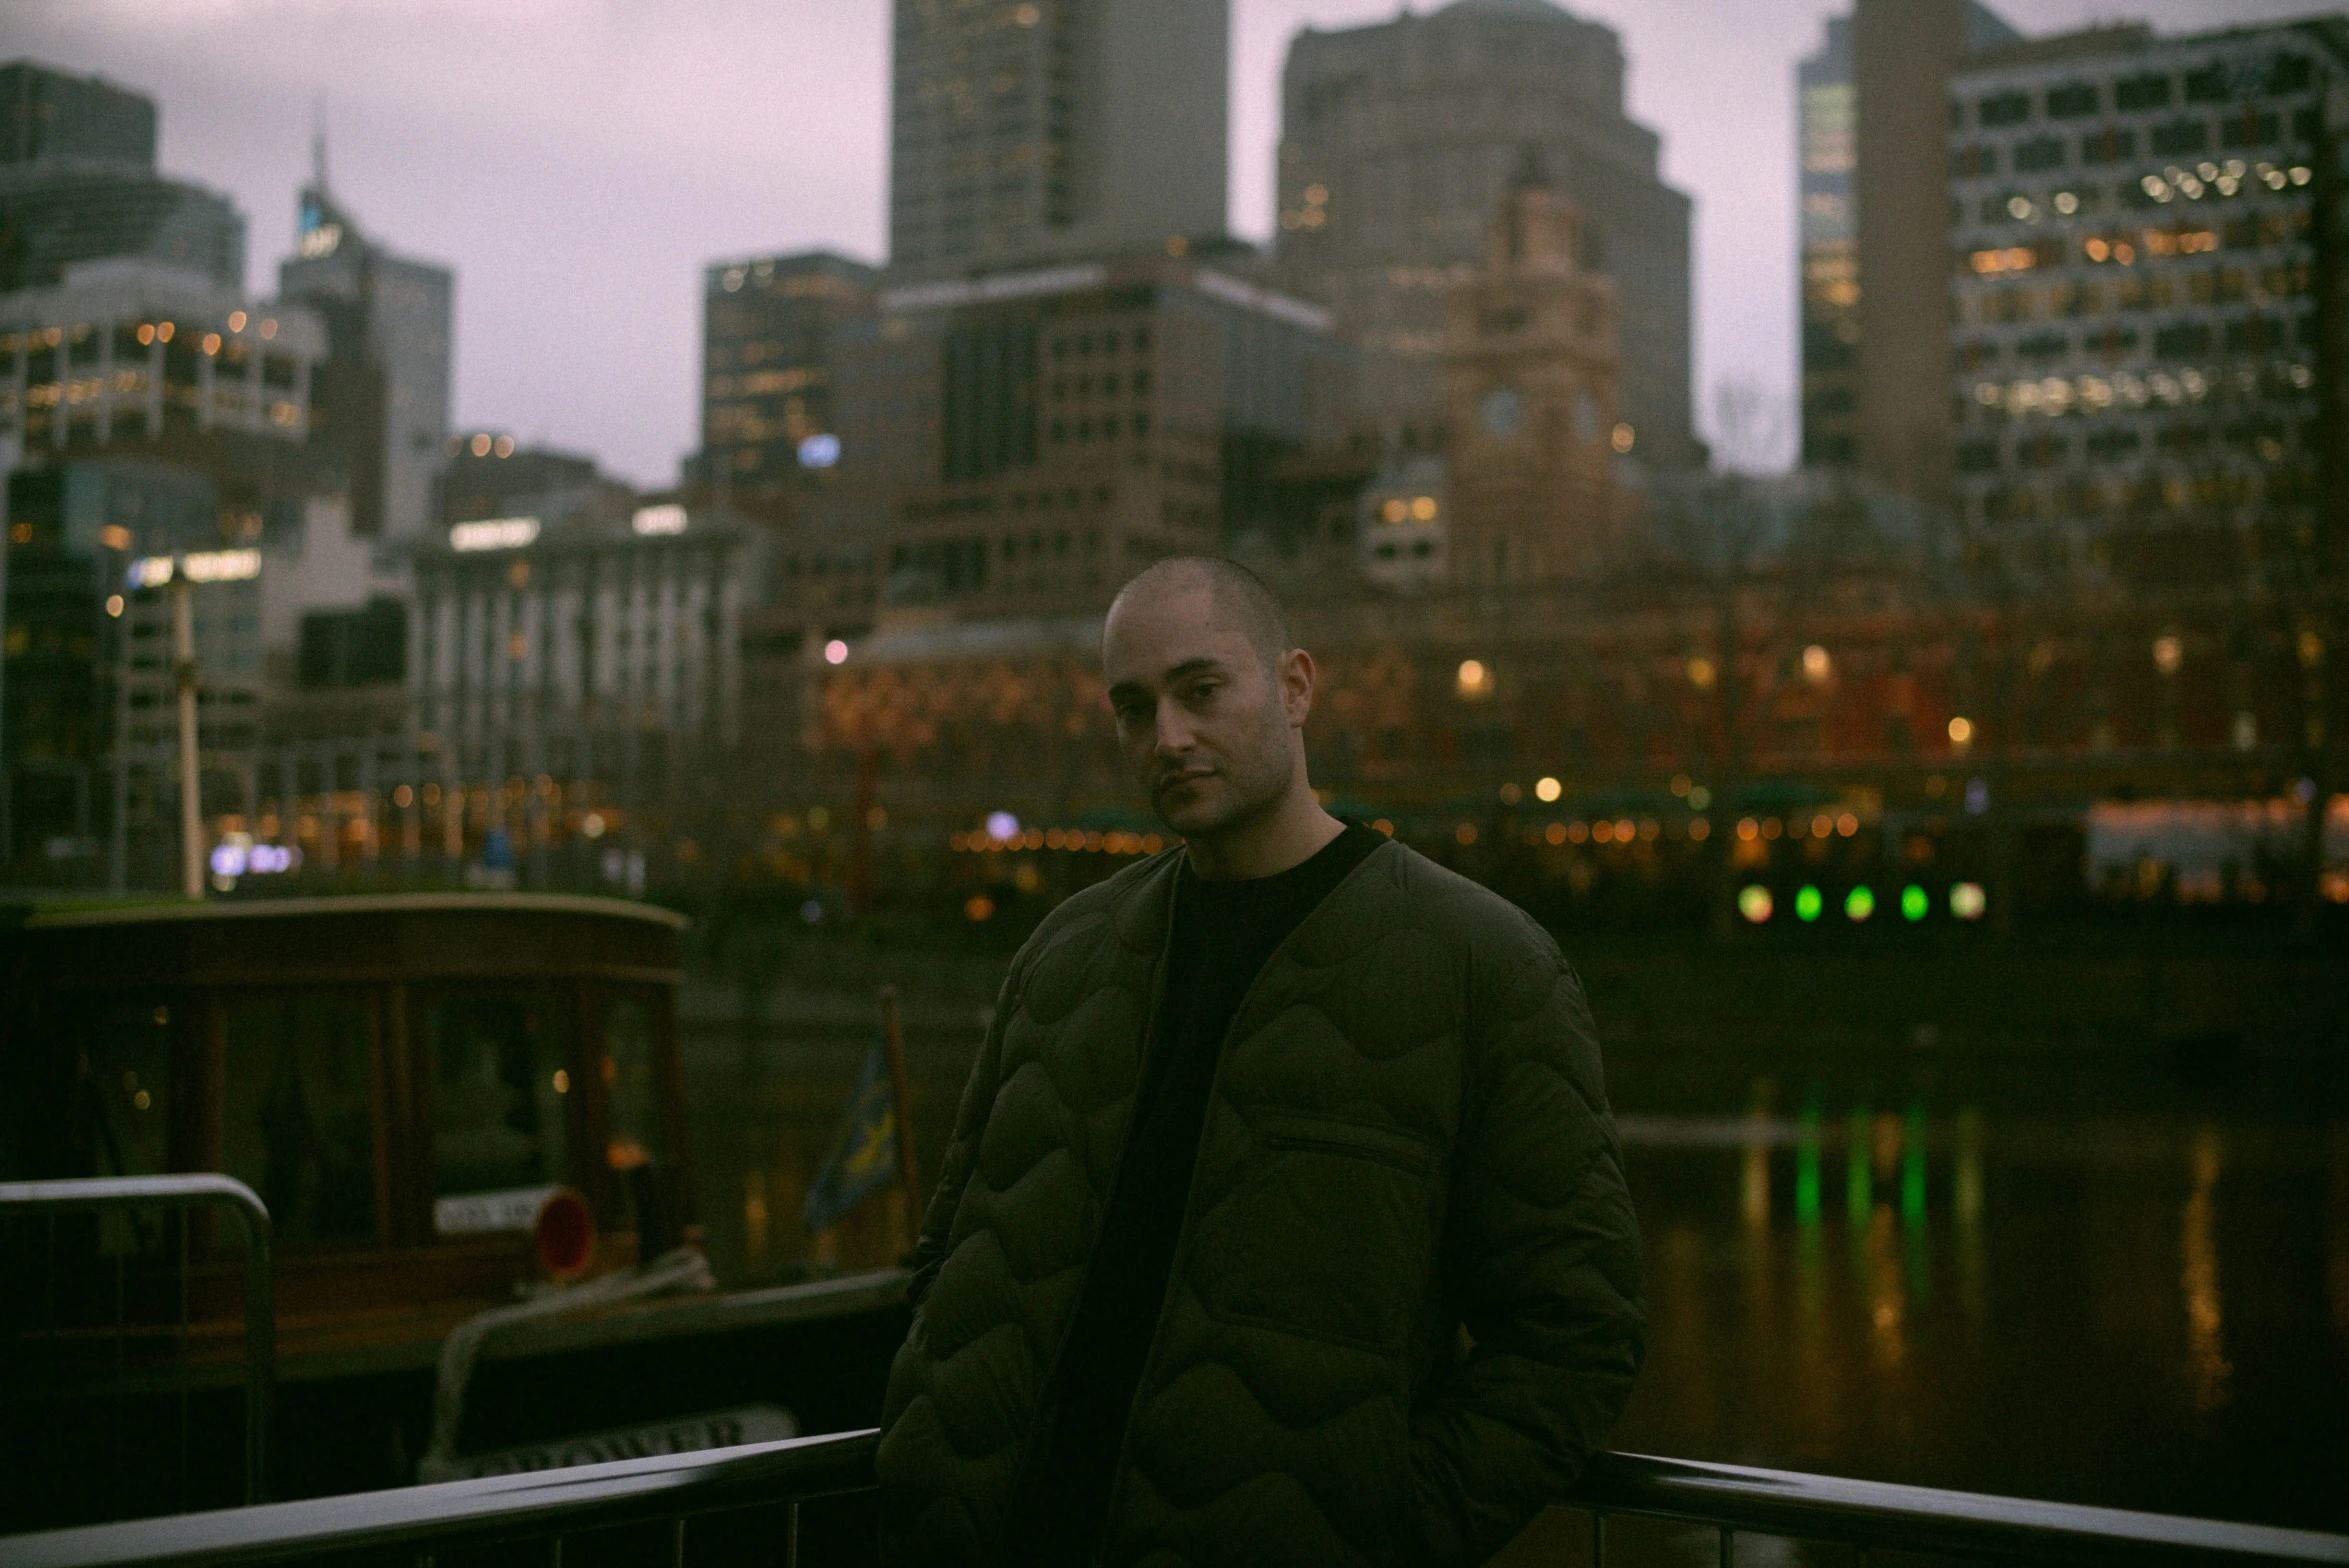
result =
M1445 423L1461 587L1555 582L1614 559L1614 284L1583 270L1583 216L1527 150L1494 214L1485 265L1452 289Z

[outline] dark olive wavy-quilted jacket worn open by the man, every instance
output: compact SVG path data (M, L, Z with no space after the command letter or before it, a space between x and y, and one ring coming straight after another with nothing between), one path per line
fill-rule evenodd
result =
M881 1413L883 1561L987 1563L1109 1202L1182 852L1012 960ZM1233 1019L1104 1563L1480 1563L1640 1366L1640 1239L1581 984L1379 845Z

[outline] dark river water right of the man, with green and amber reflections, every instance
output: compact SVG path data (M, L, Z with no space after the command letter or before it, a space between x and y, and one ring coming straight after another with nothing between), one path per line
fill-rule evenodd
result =
M2349 1467L2349 1122L2060 1115L1921 1073L1818 1075L1781 1113L1741 1082L1734 1115L1621 1117L1654 1317L1621 1446L2349 1526L2318 1479Z

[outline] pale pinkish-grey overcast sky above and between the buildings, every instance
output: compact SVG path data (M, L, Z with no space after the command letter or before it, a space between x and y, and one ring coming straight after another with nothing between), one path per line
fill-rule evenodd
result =
M275 286L327 106L369 232L456 268L456 420L665 484L698 439L700 268L881 261L888 0L0 0L0 56L153 94L162 167L226 190ZM1433 9L1421 2L1416 9ZM1579 0L1696 197L1696 387L1795 390L1795 61L1849 0ZM2194 31L2307 0L1997 0L2025 33ZM1395 0L1233 2L1233 230L1264 239L1280 59Z

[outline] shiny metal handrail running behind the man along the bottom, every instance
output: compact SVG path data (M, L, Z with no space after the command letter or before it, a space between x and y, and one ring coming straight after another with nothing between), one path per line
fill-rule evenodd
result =
M796 1568L808 1540L801 1509L824 1498L871 1502L874 1432L801 1437L716 1453L681 1453L585 1465L489 1481L277 1502L216 1514L181 1514L47 1535L0 1537L7 1568L230 1568L244 1563L369 1561L428 1568L451 1552L510 1547L517 1561L561 1568L564 1542L592 1533L644 1530L627 1561L684 1568L688 1547L726 1514L763 1512L768 1556ZM1661 1519L1717 1533L1719 1563L1734 1568L1741 1535L1792 1537L1837 1547L1957 1559L2152 1566L2349 1563L2349 1535L2131 1514L2123 1509L1985 1498L1924 1486L1844 1481L1785 1469L1694 1465L1635 1453L1593 1460L1571 1507L1593 1516L1593 1561L1609 1556L1607 1521ZM705 1542L707 1545L707 1542ZM695 1559L707 1556L695 1549ZM822 1568L867 1568L862 1545Z

